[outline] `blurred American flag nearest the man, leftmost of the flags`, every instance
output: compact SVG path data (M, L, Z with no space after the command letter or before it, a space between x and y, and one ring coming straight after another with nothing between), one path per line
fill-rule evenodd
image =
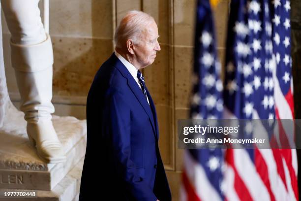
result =
M209 0L197 4L192 119L220 119L223 112L223 89L220 63L216 52L214 24ZM221 201L224 154L221 149L184 151L182 201Z

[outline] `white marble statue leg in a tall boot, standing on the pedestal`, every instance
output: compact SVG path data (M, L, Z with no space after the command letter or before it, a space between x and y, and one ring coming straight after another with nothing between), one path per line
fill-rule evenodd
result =
M21 95L27 134L37 153L47 163L65 160L62 145L51 121L53 51L43 29L39 0L1 0L11 32L11 64Z

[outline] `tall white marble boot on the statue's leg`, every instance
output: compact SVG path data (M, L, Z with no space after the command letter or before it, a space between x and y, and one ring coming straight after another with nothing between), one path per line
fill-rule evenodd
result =
M10 42L11 64L21 95L27 134L38 156L47 163L61 163L66 157L52 124L53 51L50 36L35 45Z

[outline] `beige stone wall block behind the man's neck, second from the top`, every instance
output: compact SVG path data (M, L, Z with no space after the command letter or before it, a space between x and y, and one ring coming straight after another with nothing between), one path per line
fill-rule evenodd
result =
M87 96L98 68L112 51L111 40L52 37L54 95Z

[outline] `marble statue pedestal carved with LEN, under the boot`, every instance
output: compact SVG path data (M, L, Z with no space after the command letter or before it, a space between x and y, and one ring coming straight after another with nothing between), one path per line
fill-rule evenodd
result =
M67 160L61 164L46 164L30 144L23 116L20 111L10 111L0 130L0 189L42 190L38 191L41 195L57 192L55 194L59 196L65 193L61 191L68 192L68 188L75 188L82 171L79 161L86 151L86 120L53 116L54 128ZM77 173L72 174L79 174L79 178L72 180L68 172L74 170L76 164L80 167L76 168ZM75 195L79 189L73 191Z

